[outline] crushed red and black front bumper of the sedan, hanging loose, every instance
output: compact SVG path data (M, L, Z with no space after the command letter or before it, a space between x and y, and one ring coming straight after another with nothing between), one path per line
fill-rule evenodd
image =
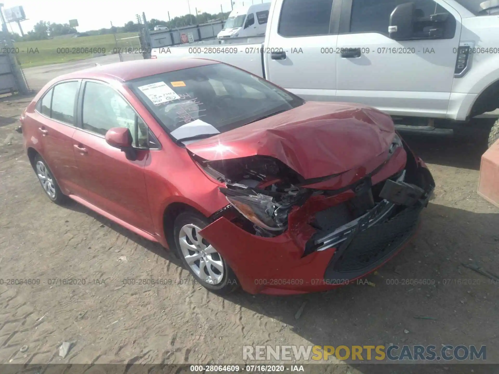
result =
M428 204L435 183L425 164L411 159L406 171L411 173L410 182L418 180L424 190L420 199L411 206L383 200L359 219L342 226L340 235L335 228L307 237L314 244L308 253L289 230L264 238L225 217L200 234L217 248L243 289L252 294L320 292L346 285L379 268L415 234L420 212Z

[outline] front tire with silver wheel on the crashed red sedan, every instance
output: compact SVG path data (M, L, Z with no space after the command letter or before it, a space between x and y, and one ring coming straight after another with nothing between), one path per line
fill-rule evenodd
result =
M173 229L177 253L184 267L203 287L217 295L228 295L239 287L236 274L216 249L197 234L209 223L205 216L197 212L179 214ZM188 262L186 257L189 256Z

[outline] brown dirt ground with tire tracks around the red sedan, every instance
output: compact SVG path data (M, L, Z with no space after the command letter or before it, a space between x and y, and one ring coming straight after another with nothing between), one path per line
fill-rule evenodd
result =
M227 364L242 363L243 345L388 343L487 345L487 362L499 363L499 285L462 265L498 273L499 209L476 193L484 151L477 144L485 137L406 137L429 164L435 198L415 241L369 277L374 287L293 297L239 292L224 299L193 284L159 245L76 203L51 203L14 131L27 102L0 102L0 363ZM85 284L54 284L68 278ZM123 284L141 278L172 285ZM7 286L7 279L40 284ZM435 284L417 284L422 279ZM62 359L64 341L72 346ZM421 367L396 373L458 372L445 364ZM473 369L481 372L476 365L459 372ZM329 372L395 373L379 365Z

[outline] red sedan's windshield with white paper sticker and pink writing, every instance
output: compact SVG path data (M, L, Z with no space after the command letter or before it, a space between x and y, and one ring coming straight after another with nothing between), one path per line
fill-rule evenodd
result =
M304 103L222 63L139 78L128 86L176 140L224 133Z

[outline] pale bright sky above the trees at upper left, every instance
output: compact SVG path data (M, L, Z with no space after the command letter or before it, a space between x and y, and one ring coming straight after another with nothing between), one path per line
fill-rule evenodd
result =
M250 5L251 3L268 2L269 0L233 0L234 7ZM146 13L146 19L157 18L168 20L170 17L198 12L218 13L221 10L230 11L231 0L3 0L4 8L21 5L26 14L26 20L21 22L24 33L33 29L40 20L55 23L69 23L70 19L77 19L79 32L123 26L128 21L135 21L135 14ZM19 33L16 22L7 25L8 30Z

